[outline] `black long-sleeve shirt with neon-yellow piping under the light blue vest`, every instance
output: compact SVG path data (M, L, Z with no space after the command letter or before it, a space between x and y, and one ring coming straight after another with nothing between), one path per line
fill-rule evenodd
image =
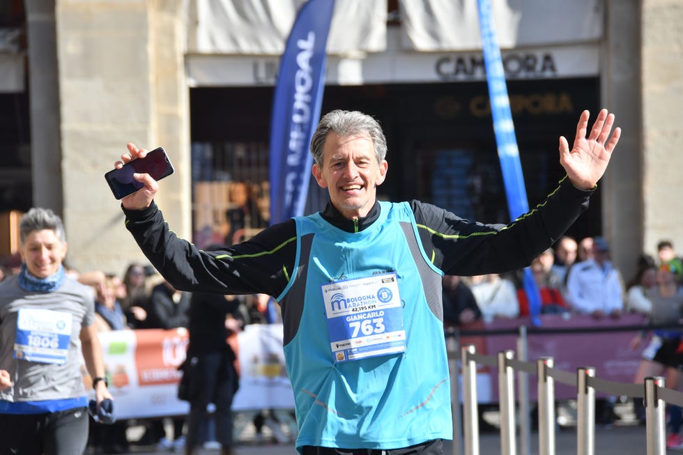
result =
M565 176L546 201L507 226L470 222L420 201L411 201L410 206L432 263L446 274L471 276L530 264L588 208L590 194L592 190L578 190ZM354 232L375 222L379 210L375 203L367 217L346 219L328 204L323 217L339 229ZM124 209L124 213L126 227L144 254L176 289L277 297L298 272L298 236L292 219L270 226L246 242L204 252L169 230L155 203L144 210Z

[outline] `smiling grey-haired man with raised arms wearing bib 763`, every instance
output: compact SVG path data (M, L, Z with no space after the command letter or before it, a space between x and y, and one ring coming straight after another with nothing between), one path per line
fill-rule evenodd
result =
M282 308L298 452L441 454L452 438L441 277L525 267L588 206L620 137L603 109L588 137L560 137L558 188L507 226L482 224L420 201L380 202L387 146L358 111L332 111L311 142L321 213L275 224L247 242L204 252L169 230L158 184L123 199L126 227L155 267L187 291L273 295ZM116 167L144 159L128 144Z

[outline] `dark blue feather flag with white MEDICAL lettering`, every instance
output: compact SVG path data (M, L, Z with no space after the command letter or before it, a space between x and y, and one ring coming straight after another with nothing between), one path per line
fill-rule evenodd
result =
M334 0L304 3L282 54L270 118L270 224L304 214L334 8Z

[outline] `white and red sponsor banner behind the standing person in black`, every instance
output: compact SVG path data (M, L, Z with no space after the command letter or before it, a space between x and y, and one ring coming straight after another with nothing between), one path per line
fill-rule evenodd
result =
M187 414L189 404L177 396L187 330L115 330L99 337L118 419ZM247 325L238 334L238 346L242 376L233 410L293 409L282 325ZM91 378L84 382L92 391Z

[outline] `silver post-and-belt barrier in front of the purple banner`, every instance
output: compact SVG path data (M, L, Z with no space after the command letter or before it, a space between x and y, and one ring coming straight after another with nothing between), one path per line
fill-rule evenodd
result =
M594 455L595 395L642 398L645 403L645 432L647 455L666 454L666 403L683 406L683 393L666 388L664 378L645 378L643 384L606 380L596 376L594 367L578 367L567 371L555 367L553 357L539 357L527 361L529 332L542 334L632 332L644 329L671 328L671 325L623 325L621 327L564 327L561 330L527 327L521 325L516 332L516 356L514 350L500 350L495 355L477 353L475 346L461 344L461 336L483 335L486 337L510 334L512 329L497 331L452 332L447 338L451 366L452 401L454 408L453 454L479 455L477 371L478 365L497 369L498 405L500 411L501 455L516 455L519 431L519 451L530 454L530 393L529 375L536 376L536 399L538 412L539 455L555 454L555 383L573 387L577 402L577 454ZM517 394L514 391L514 374L517 373ZM462 391L460 390L462 383ZM462 394L461 394L462 393ZM462 398L461 398L462 396Z

